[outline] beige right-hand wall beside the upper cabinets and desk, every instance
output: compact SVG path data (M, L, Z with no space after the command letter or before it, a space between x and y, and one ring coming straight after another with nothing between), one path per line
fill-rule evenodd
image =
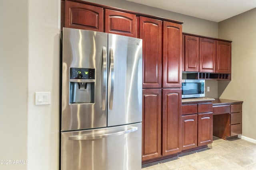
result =
M242 100L243 135L256 140L256 8L219 23L219 38L232 40L232 80L219 82L220 98Z

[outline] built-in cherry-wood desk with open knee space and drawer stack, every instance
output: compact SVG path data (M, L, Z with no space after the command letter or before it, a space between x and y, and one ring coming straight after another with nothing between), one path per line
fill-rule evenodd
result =
M227 140L242 134L242 104L237 100L212 100L214 136Z

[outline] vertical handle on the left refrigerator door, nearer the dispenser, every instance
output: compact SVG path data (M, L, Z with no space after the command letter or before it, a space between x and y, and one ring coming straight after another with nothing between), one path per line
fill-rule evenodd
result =
M103 88L102 88L102 110L105 110L106 109L106 96L107 96L107 92L106 92L106 88L107 88L107 50L106 50L106 47L103 47L102 48L102 52L103 52L103 63L102 63L102 73L103 73Z

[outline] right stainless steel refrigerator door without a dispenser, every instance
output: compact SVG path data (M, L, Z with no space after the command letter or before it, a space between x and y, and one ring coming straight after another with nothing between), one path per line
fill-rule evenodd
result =
M108 126L142 121L142 39L108 34Z

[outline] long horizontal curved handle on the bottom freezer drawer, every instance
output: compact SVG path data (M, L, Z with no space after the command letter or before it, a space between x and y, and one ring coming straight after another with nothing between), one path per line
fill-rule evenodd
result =
M77 135L77 136L70 136L68 137L69 140L73 140L73 141L81 141L81 140L91 140L91 139L102 139L102 138L106 138L106 137L113 137L113 136L118 136L118 135L124 135L126 133L131 133L134 131L137 131L138 127L133 127L131 129L125 130L125 131L119 131L119 132L115 132L115 133L108 133L108 134L102 134L102 135L94 135L94 136L81 136L81 135Z

